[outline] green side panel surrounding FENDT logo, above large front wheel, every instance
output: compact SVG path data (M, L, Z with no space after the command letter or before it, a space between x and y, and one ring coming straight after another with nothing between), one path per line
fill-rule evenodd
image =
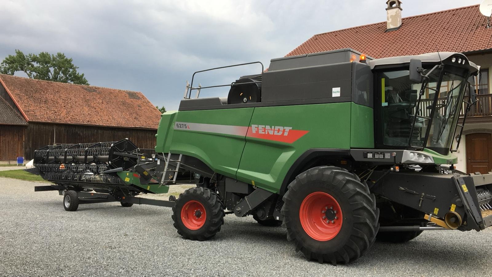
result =
M272 192L280 190L287 171L308 149L350 149L349 102L258 107L251 124L308 131L293 143L246 137L237 179Z

